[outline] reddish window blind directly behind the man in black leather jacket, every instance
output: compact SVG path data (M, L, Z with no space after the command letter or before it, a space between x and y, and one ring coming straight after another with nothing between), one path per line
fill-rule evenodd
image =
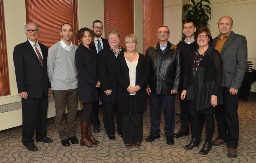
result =
M163 0L143 0L143 52L156 44L157 29L163 25Z

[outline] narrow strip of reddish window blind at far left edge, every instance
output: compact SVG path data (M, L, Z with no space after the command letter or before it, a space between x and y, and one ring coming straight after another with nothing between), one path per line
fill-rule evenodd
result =
M4 3L0 0L0 96L11 94L4 19Z

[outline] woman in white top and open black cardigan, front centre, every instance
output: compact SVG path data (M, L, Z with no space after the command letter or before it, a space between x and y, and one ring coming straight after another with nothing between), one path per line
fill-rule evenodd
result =
M115 71L118 82L117 107L122 114L123 140L126 148L140 147L143 139L143 112L147 108L145 85L149 67L144 55L136 52L137 38L125 37L126 49L117 57Z

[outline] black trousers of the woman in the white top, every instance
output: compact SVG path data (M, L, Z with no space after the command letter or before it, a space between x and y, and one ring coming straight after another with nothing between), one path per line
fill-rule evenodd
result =
M143 112L136 110L136 98L130 95L129 113L121 113L124 144L141 143L143 139Z

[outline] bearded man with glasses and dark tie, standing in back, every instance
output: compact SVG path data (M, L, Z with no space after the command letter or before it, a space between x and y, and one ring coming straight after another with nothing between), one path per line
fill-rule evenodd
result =
M99 53L103 48L109 47L109 41L101 37L103 26L100 20L93 21L91 30L94 32L94 35L95 35L94 44L92 45L92 48L95 49L97 53ZM92 111L92 125L93 125L94 133L100 132L100 120L98 118L98 114L99 114L99 105L94 105L94 108Z

